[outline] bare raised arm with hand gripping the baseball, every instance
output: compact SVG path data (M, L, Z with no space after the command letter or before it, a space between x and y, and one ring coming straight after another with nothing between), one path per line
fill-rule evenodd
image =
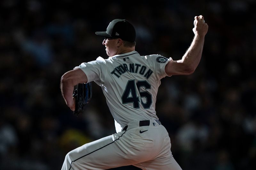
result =
M202 57L204 36L207 31L208 25L204 23L204 17L202 15L195 16L194 39L181 60L172 60L166 64L165 72L167 75L189 75L196 70Z

